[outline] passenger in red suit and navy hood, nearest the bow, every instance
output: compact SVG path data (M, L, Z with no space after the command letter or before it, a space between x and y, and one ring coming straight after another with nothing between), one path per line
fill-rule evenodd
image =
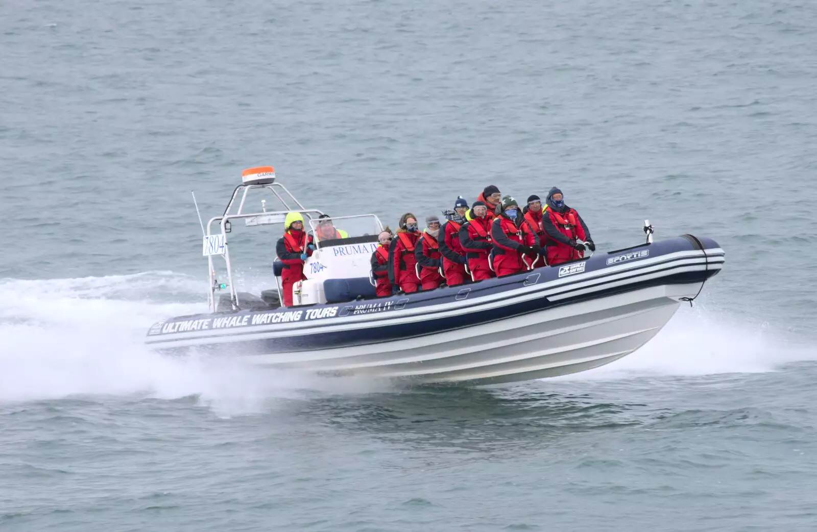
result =
M542 215L542 230L546 234L545 245L547 264L553 266L568 260L581 259L584 245L577 240L587 242L591 251L596 244L590 237L590 231L581 216L574 209L565 205L565 197L557 187L547 193L547 206Z

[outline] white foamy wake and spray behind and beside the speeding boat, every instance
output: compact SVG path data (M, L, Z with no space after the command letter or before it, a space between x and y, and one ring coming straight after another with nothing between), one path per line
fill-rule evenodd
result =
M163 317L200 313L199 279L171 272L111 277L0 280L0 401L70 396L197 397L219 414L261 411L267 401L319 393L389 391L364 379L319 379L260 371L236 360L162 357L143 344ZM645 347L620 361L560 381L644 375L774 370L817 358L781 344L764 327L681 308Z

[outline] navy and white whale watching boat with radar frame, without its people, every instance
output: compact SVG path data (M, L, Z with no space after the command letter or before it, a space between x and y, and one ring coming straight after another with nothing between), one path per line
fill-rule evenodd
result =
M261 196L261 211L249 207L257 205L254 196ZM724 264L712 239L685 234L653 242L645 221L646 242L636 246L378 298L369 259L383 224L376 215L337 216L343 237L315 239L306 280L292 287L294 306L282 307L274 249L289 211L300 212L313 233L323 214L293 197L271 166L243 171L224 213L202 227L209 312L154 324L147 344L168 354L241 357L328 376L469 385L540 379L603 366L640 348ZM264 264L272 263L262 270L266 290L236 287L243 277L231 255L242 255L233 225L243 225L242 236L256 235L257 249L243 255L251 268L264 262L259 249Z

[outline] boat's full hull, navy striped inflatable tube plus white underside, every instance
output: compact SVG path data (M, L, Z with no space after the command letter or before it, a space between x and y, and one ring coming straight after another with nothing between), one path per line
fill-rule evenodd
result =
M694 242L677 238L362 303L177 317L154 325L147 341L174 354L212 352L277 370L408 383L567 375L640 348L681 301L699 295L724 252L713 241L705 239L705 250Z

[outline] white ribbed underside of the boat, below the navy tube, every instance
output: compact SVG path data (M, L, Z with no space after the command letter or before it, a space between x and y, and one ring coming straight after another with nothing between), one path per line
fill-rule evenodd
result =
M700 285L654 286L436 335L247 360L417 383L484 384L566 375L640 348L666 325L677 299L695 295Z

